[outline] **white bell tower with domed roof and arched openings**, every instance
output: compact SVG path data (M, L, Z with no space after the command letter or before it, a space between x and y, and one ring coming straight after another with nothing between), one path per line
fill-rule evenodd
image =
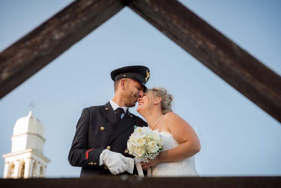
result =
M43 155L45 127L32 115L19 118L15 124L11 153L5 159L3 178L38 178L46 176L50 159Z

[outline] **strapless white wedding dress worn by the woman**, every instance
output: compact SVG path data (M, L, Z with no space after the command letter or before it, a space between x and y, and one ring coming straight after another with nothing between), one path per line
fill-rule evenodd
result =
M171 133L159 132L163 139L162 151L177 147L179 144ZM180 161L158 163L151 167L152 177L179 177L179 176L199 176L195 168L194 156Z

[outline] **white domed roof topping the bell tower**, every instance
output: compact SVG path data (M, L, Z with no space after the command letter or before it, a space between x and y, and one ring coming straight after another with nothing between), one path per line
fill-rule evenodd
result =
M32 111L29 111L27 116L18 119L14 127L13 136L25 133L38 134L42 138L44 138L45 135L44 124L32 115Z

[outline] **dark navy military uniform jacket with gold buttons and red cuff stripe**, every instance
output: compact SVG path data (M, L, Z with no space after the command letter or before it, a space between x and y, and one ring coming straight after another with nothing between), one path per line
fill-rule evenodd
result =
M117 128L114 130L114 125ZM127 110L120 123L110 103L104 106L84 108L76 126L75 136L68 155L72 166L82 167L80 177L89 175L111 175L104 165L99 165L99 157L104 149L133 158L125 150L127 141L138 127L148 126L138 116ZM127 171L120 174L129 174ZM137 174L134 167L134 174Z

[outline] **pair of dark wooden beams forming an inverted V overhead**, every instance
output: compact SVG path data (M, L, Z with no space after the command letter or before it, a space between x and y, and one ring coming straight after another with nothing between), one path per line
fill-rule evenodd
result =
M281 77L176 0L76 1L0 54L0 97L125 6L281 122Z

